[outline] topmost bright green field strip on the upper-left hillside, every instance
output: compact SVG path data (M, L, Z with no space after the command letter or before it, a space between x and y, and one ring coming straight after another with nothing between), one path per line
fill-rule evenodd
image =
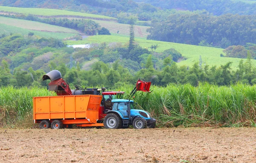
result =
M107 17L103 15L95 15L95 14L86 14L81 12L74 11L66 11L66 10L57 10L57 9L48 9L48 8L18 8L18 7L6 7L0 6L0 11L7 12L15 12L22 14L33 14L33 15L42 15L42 16L80 16L94 19L102 19L102 20L116 20L113 17Z

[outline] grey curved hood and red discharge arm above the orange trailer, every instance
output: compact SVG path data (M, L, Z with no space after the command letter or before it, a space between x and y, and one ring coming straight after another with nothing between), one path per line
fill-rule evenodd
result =
M58 96L72 95L70 87L66 81L61 78L61 73L58 70L52 70L43 76L43 81L50 79L48 84L49 90L55 91Z

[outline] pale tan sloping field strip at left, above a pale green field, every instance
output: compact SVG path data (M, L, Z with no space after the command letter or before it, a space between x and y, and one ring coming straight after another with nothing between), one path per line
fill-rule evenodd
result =
M0 17L0 23L6 25L12 25L19 28L35 30L35 31L50 31L50 32L61 32L61 33L75 33L79 32L70 28L59 27L56 25L49 25L41 22L34 22L29 20L13 19L8 17Z

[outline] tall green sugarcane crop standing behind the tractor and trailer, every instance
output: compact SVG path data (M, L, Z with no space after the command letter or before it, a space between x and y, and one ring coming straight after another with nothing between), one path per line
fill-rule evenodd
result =
M131 85L118 90L128 93ZM166 87L152 86L152 93L137 92L137 107L147 110L157 118L158 126L256 126L256 87L247 84L230 86L201 83L171 84ZM24 118L33 126L32 97L56 96L42 88L0 88L0 126L18 124ZM22 122L23 124L23 122ZM21 127L26 127L19 125Z

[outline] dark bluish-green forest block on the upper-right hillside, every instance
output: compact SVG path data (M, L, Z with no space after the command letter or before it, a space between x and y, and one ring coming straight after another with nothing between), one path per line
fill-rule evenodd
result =
M256 43L254 16L225 14L173 14L155 21L148 31L148 39L192 45L219 46Z

